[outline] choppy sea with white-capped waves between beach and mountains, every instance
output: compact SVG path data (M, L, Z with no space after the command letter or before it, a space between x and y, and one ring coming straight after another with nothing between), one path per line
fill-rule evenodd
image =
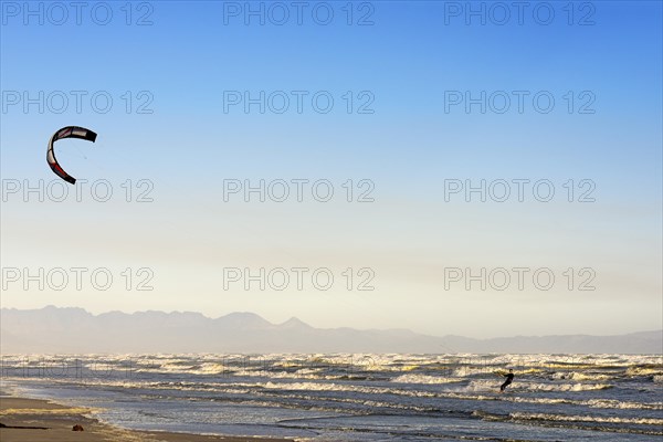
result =
M508 369L514 382L499 392ZM663 435L660 355L3 355L1 383L136 430L302 441Z

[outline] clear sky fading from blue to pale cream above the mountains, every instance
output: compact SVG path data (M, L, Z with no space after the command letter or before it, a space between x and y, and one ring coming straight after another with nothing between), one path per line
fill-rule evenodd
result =
M2 307L663 327L659 1L1 13Z

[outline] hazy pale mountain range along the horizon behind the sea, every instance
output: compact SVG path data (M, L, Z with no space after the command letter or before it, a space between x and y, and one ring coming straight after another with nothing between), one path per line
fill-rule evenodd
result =
M406 329L314 328L297 318L272 324L252 313L212 319L199 313L92 315L82 308L49 306L0 309L0 352L663 354L663 330L473 339Z

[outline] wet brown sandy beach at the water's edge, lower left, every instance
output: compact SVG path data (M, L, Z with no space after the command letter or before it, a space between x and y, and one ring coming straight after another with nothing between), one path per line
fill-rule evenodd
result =
M46 400L0 397L2 442L287 442L288 439L213 436L185 433L133 431L86 417L91 410ZM73 431L74 425L84 431Z

